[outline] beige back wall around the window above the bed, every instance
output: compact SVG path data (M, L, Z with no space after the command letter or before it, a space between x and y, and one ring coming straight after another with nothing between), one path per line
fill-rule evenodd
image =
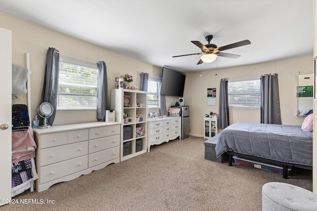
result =
M301 125L303 117L297 117L296 74L313 72L313 56L266 62L240 67L223 68L186 75L185 104L190 110L191 134L203 135L203 117L205 114L218 113L220 79L257 77L263 74L278 74L281 119L284 125ZM216 75L217 74L217 75ZM207 88L217 88L216 105L207 106ZM260 123L260 110L229 109L229 123Z

